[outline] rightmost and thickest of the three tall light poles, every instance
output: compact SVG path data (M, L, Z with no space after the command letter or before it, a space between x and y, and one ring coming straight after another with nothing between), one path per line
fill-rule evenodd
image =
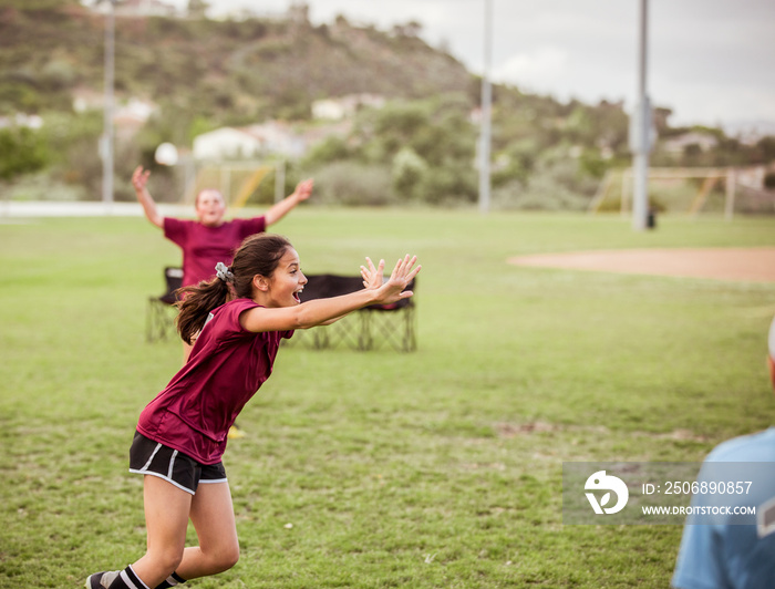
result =
M632 149L632 228L647 228L649 215L649 152L651 151L651 104L645 87L648 55L648 0L640 0L640 43L638 54L638 102L630 126Z

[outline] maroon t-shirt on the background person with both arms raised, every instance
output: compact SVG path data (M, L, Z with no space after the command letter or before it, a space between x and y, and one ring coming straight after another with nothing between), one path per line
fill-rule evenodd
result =
M183 286L197 285L215 276L215 265L231 266L235 250L246 237L267 230L264 217L231 219L218 227L199 221L164 217L164 237L183 249Z

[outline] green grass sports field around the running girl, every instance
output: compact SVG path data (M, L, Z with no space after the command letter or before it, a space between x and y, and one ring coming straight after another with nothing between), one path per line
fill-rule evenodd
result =
M225 457L241 560L192 587L665 588L681 527L564 526L562 463L699 462L772 423L775 285L505 260L774 246L775 219L306 208L277 230L308 273L417 254L418 350L281 350ZM33 219L0 225L0 587L80 587L144 551L127 453L179 368L144 341L179 254L141 218Z

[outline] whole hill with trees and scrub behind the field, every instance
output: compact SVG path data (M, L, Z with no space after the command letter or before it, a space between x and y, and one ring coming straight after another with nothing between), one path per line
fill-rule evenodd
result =
M221 126L283 120L313 126L316 100L358 93L385 99L362 108L345 136L330 136L292 162L287 182L314 174L321 202L461 204L476 199L476 112L480 81L410 22L390 31L345 17L314 25L304 7L277 18L215 21L204 17L117 17L118 102L153 103L142 128L118 137L118 198L133 198L136 163L153 165L162 142L190 147ZM103 89L104 17L74 0L0 1L0 116L40 115L38 131L0 128L0 180L38 170L38 192L79 198L100 193L101 104L76 97ZM96 99L95 99L96 100ZM686 130L658 108L660 137ZM775 138L744 145L720 130L710 149L654 154L671 165L747 165L775 159ZM629 165L621 103L561 103L496 85L493 185L496 206L583 208L608 169ZM168 170L159 169L158 182ZM172 177L169 178L172 180ZM34 184L34 183L33 183ZM179 194L172 185L162 194ZM34 190L32 190L34 192ZM266 197L266 195L265 195Z

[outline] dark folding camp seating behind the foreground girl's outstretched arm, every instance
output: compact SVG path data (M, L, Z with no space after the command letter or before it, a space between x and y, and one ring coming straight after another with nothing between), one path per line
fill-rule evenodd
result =
M363 279L358 276L308 275L301 301L324 299L348 294L363 288ZM416 279L409 285L415 290ZM297 332L289 342L302 341L314 349L347 348L360 351L376 350L384 345L401 352L417 349L414 330L414 300L403 299L393 304L374 304L340 319L331 326L323 326Z

